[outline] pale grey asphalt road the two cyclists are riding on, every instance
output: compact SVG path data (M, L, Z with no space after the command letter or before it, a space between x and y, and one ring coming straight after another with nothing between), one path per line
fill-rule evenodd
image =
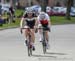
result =
M56 25L49 33L50 49L43 54L36 34L35 47L31 57L27 55L24 35L19 28L0 31L0 61L75 61L75 24Z

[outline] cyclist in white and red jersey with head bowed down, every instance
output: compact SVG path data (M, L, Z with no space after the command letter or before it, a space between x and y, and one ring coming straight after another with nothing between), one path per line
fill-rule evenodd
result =
M48 36L48 32L50 31L50 18L48 16L47 13L45 12L40 12L38 18L38 27L44 27L45 28L45 37L47 40L47 48L49 46L49 36ZM39 29L39 34L40 34L40 42L42 41L42 29Z

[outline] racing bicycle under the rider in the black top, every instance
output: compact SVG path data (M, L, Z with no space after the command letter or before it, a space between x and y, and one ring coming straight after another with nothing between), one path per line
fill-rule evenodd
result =
M28 40L27 40L27 50L28 50L28 56L32 56L32 45L31 45L31 34L30 34L30 28L22 28L22 29L28 29Z

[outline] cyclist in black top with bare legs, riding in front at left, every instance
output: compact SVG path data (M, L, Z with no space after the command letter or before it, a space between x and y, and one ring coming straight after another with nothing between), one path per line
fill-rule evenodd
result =
M35 47L34 47L34 42L35 42L35 25L36 25L37 21L36 21L36 18L32 12L32 9L29 8L25 14L23 15L23 18L21 19L21 22L20 22L20 27L21 27L21 32L22 32L22 28L29 28L30 29L30 34L31 34L31 39L32 39L32 48L33 50L35 50ZM28 29L25 29L24 30L25 32L25 43L27 44L27 36L28 36Z

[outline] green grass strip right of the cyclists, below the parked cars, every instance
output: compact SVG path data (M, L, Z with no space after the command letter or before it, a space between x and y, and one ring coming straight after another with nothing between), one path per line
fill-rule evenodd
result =
M75 24L75 17L71 17L71 20L67 20L65 16L52 16L51 23L53 25L59 24Z

